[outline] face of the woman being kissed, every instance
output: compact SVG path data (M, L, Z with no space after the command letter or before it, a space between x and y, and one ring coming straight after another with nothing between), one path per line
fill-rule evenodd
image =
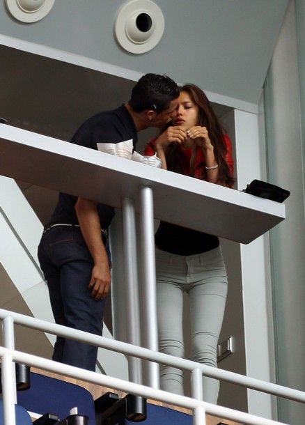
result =
M199 108L187 91L182 91L178 98L177 115L173 125L181 125L187 129L198 125Z

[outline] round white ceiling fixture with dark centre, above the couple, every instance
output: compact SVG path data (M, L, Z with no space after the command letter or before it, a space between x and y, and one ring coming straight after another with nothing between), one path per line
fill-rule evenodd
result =
M150 0L132 0L118 11L114 32L123 49L145 53L161 40L164 31L162 10Z

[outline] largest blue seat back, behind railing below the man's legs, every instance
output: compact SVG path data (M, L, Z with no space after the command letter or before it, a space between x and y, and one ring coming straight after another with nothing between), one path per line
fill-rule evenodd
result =
M31 387L17 391L17 403L29 412L54 413L59 419L77 407L79 415L88 416L88 425L95 425L94 400L87 389L40 373L31 372Z

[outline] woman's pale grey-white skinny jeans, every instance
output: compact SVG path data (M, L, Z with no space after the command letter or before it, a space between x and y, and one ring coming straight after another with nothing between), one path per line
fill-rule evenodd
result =
M183 293L189 295L192 359L217 367L217 343L224 318L228 279L221 248L180 256L156 249L159 350L185 357ZM183 394L183 371L161 366L161 388ZM217 403L219 381L203 377L203 400Z

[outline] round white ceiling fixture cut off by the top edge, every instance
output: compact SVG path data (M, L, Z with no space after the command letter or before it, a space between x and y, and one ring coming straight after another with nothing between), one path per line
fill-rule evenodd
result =
M6 0L10 13L18 21L36 22L47 16L55 0Z

